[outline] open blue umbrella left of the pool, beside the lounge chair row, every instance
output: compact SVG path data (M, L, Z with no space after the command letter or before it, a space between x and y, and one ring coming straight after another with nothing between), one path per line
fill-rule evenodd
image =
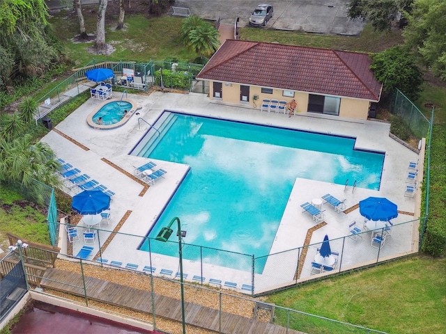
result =
M99 190L84 190L72 198L71 208L79 214L99 214L110 207L110 196Z

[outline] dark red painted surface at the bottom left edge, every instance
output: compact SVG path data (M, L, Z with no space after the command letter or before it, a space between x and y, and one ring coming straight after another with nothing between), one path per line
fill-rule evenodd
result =
M34 301L13 334L162 334Z

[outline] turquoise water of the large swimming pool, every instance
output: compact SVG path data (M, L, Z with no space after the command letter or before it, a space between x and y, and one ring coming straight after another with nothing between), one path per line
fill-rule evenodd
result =
M188 164L191 170L149 237L178 216L187 244L268 255L296 177L336 184L357 180L358 187L379 189L384 154L353 150L354 138L175 117L149 158ZM176 225L173 229L175 241ZM154 250L151 244L152 251L178 255L178 246ZM148 244L140 249L148 250ZM183 257L240 269L250 265L247 257L213 250L200 254L185 247Z

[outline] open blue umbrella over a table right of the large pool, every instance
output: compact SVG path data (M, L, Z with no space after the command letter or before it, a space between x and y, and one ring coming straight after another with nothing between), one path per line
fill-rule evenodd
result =
M369 197L360 201L360 214L370 221L389 221L397 218L398 207L387 198Z

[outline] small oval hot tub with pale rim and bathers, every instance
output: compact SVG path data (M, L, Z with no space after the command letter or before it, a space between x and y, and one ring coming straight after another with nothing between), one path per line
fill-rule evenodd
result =
M111 130L125 125L141 106L128 99L112 99L99 104L86 118L93 129Z

